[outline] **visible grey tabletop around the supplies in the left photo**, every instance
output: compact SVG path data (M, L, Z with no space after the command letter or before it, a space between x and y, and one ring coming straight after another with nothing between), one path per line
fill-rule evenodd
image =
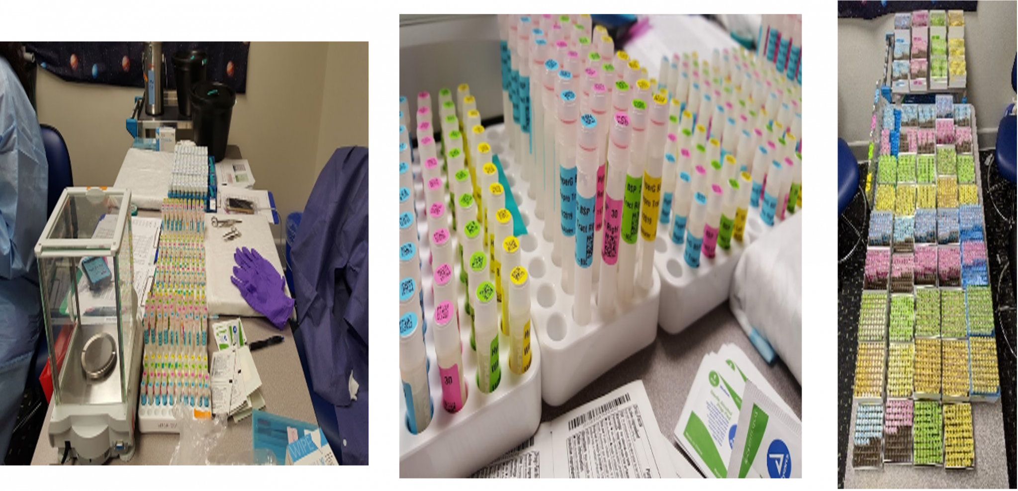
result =
M139 210L138 217L158 218L159 213L156 211ZM254 358L254 364L259 368L259 376L262 378L262 395L265 396L266 401L266 407L263 411L317 424L318 420L315 417L315 409L312 406L310 393L307 391L307 383L304 381L303 370L300 368L300 359L297 357L297 349L293 343L293 332L290 326L285 326L282 332L280 332L276 326L272 325L264 317L242 317L242 319L244 332L252 341L264 340L276 334L282 334L286 337L286 341L279 345L251 353L251 356ZM218 322L219 320L222 320L222 318L210 319L210 323ZM213 339L211 332L209 339ZM215 346L210 344L210 359L213 351L215 351ZM47 436L52 413L53 405L50 405L46 412L46 421L43 423L43 429L39 434L36 452L32 457L33 466L48 466L60 462L58 450L50 446L49 437ZM165 466L169 464L170 454L173 453L173 449L179 440L180 437L176 433L136 433L134 442L137 448L131 461L124 463L120 458L111 458L107 461L106 465ZM250 448L251 418L248 417L240 423L233 423L232 421L228 423L226 434L214 452L217 454L226 454Z

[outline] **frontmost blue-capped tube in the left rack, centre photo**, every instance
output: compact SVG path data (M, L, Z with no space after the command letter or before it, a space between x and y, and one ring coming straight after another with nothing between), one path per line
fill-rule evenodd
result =
M416 313L399 318L399 377L406 397L407 425L410 433L418 434L432 422L432 400L429 395L428 370L425 361L425 341L417 334Z

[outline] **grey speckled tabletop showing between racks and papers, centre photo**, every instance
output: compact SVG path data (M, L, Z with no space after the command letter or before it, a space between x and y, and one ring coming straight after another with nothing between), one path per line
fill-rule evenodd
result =
M692 388L696 369L708 353L717 352L726 343L738 346L788 403L795 416L802 419L802 387L780 359L774 366L764 363L732 315L728 302L725 302L678 334L670 334L659 326L654 344L598 377L566 404L556 408L542 403L541 421L551 421L626 383L641 379L654 416L658 419L658 427L668 442L676 446L673 431Z

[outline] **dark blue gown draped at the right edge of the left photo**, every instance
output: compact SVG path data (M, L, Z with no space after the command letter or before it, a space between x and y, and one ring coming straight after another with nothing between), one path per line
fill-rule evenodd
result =
M367 148L319 174L291 250L297 322L316 392L334 405L344 466L367 466ZM359 385L351 400L350 374ZM327 435L328 436L328 435Z

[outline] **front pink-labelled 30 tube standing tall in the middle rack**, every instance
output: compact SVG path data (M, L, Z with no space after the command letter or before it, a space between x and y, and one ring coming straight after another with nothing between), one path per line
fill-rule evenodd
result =
M608 148L608 181L605 187L605 246L602 250L601 281L598 283L598 306L602 312L615 309L616 263L622 228L622 199L625 186L624 169L629 167L629 144L632 138L629 117L615 114Z

